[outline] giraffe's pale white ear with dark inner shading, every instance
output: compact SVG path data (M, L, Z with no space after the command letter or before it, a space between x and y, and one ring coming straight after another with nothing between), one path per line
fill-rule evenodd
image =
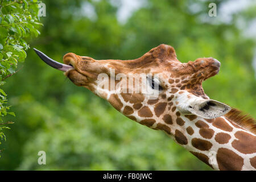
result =
M187 110L199 117L213 119L228 113L231 107L214 100L195 100L188 105Z

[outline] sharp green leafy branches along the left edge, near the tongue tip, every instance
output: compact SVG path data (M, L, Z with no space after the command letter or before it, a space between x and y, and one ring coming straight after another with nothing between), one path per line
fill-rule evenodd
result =
M0 1L0 86L6 83L6 78L18 72L18 62L23 62L30 48L26 38L40 34L38 28L42 23L38 19L38 3L36 1ZM0 89L0 122L6 114L15 116L6 106L7 94ZM11 122L0 123L0 137L6 139L3 126Z

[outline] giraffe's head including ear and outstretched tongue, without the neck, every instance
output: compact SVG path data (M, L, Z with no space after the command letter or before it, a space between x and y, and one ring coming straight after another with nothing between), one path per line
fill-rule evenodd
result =
M230 111L229 106L204 93L202 82L220 70L220 62L212 57L181 63L173 47L161 44L134 60L94 60L67 53L60 64L35 51L47 64L64 71L75 85L84 86L127 117L154 129L166 128L170 133L166 125L156 122L159 119L168 124L172 119L179 122L180 115L212 119Z

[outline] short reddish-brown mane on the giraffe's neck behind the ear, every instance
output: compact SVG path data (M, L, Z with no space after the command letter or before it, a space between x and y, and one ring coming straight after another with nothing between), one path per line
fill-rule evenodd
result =
M256 121L248 114L243 114L242 111L232 108L224 117L230 122L234 122L241 126L243 129L249 130L251 133L256 134Z

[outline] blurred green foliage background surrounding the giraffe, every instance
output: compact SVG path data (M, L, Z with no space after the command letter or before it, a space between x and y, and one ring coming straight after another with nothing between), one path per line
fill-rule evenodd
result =
M31 48L59 61L68 52L135 59L162 43L173 46L181 62L214 57L221 70L204 82L205 93L256 117L253 1L229 14L236 1L214 1L217 17L208 16L212 1L203 0L43 2L44 27ZM16 117L9 116L15 124L5 131L0 170L211 169L163 132L131 121L73 85L32 49L19 66L4 86ZM46 165L38 164L39 151L46 151Z

